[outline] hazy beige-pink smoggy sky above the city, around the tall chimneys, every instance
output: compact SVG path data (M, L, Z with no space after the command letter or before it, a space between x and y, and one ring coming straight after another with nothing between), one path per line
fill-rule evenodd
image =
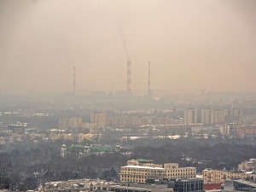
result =
M0 90L256 91L255 0L0 0Z

